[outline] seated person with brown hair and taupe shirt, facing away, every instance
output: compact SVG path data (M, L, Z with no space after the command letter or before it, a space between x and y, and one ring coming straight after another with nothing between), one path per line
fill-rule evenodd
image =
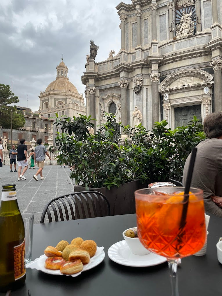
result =
M222 112L207 115L203 126L207 139L196 146L191 186L203 190L205 211L222 218ZM183 184L190 157L184 165Z

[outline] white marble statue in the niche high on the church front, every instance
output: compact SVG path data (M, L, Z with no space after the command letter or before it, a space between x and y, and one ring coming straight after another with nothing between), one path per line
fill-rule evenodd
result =
M176 25L176 38L187 38L194 35L194 21L192 20L192 11L190 13L182 12L180 24Z

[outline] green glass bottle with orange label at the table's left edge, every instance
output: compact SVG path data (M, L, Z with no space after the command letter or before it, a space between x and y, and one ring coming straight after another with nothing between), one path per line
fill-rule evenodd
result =
M2 186L0 206L0 291L25 283L25 228L15 185Z

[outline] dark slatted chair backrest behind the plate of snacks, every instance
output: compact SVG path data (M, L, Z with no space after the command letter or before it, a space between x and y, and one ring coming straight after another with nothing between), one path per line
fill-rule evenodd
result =
M110 203L97 191L81 191L55 197L44 207L40 223L45 215L49 222L110 216Z

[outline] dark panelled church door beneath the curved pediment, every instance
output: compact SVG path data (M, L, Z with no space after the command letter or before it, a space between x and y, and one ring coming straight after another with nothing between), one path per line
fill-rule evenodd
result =
M174 109L175 114L175 127L186 126L189 121L197 116L197 119L201 118L201 105L178 107Z

